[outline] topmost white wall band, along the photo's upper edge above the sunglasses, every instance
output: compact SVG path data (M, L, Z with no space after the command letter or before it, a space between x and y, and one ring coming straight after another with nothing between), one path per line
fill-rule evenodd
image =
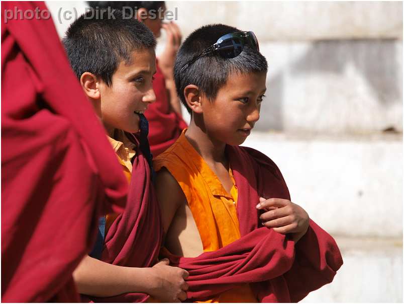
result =
M224 23L252 30L260 41L402 39L401 2L166 2L178 8L189 35L199 26Z

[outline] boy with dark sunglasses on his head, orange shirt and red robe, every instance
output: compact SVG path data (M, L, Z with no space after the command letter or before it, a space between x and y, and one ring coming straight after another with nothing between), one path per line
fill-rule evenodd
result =
M254 33L201 27L174 73L191 121L154 168L162 254L189 272L188 300L294 302L331 282L342 265L334 239L290 201L269 158L239 146L267 89Z

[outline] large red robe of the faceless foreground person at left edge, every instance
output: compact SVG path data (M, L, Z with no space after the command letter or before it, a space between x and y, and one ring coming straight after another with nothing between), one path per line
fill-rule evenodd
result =
M52 19L5 22L35 9L2 2L2 301L72 302L98 217L123 210L128 186Z

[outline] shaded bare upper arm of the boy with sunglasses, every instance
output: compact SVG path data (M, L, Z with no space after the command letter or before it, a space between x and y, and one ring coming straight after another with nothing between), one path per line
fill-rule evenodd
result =
M186 199L178 182L164 167L156 174L156 194L161 209L164 233L166 233L175 212Z

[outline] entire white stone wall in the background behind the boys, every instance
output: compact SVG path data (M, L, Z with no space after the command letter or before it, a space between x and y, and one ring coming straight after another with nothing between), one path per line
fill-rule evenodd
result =
M211 23L258 37L268 60L265 120L245 145L282 168L292 201L335 237L344 258L333 284L304 301L401 302L402 3L165 6L183 37ZM163 31L159 39L170 38Z

